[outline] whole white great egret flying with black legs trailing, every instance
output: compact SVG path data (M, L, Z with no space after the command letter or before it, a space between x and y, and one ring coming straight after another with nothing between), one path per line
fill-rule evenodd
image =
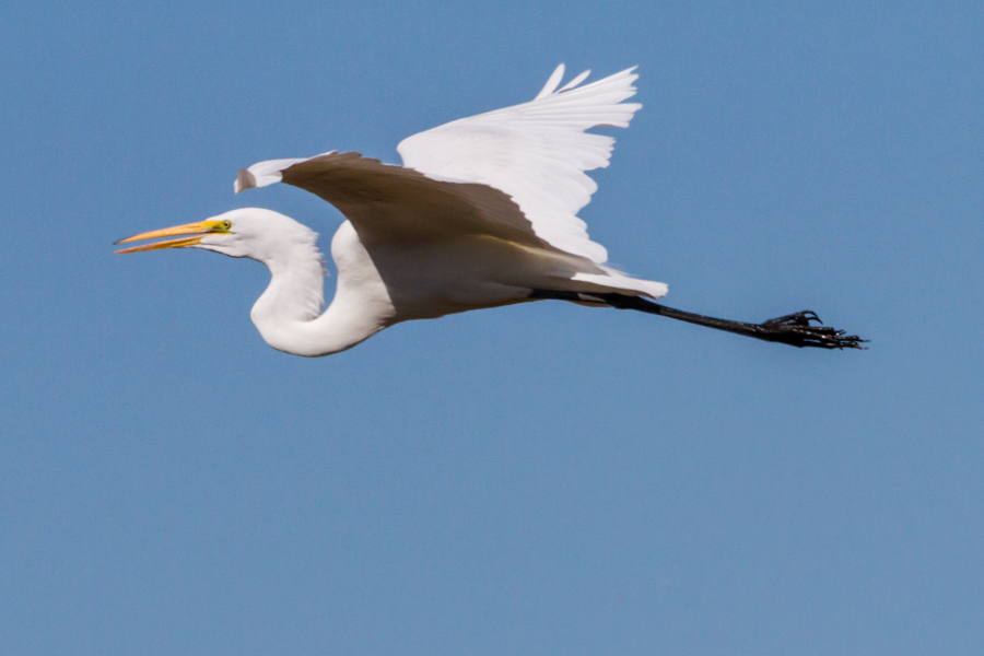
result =
M235 191L278 181L327 200L348 219L331 239L335 298L321 314L317 234L256 208L120 242L178 236L118 250L204 248L259 260L270 284L250 316L268 344L296 355L350 349L410 319L544 298L635 309L796 347L862 348L818 325L812 312L745 324L672 309L667 292L605 266L577 211L597 189L585 172L608 166L614 139L586 132L629 127L642 106L634 68L560 86L564 67L528 103L456 120L405 139L403 166L336 151L239 169ZM179 236L180 235L180 236Z

